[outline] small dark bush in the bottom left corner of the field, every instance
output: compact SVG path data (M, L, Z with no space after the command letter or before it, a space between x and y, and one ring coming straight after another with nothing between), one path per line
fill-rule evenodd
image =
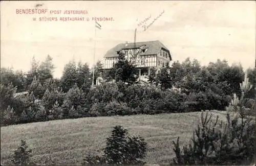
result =
M30 165L31 150L28 149L25 140L21 140L20 146L14 151L11 162L14 165Z

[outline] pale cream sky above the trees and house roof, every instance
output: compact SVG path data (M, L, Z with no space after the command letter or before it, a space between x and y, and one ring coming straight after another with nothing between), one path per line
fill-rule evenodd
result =
M115 45L134 42L137 29L137 42L161 41L173 61L189 57L207 65L225 59L247 69L255 65L255 7L254 1L1 1L1 67L27 72L33 56L44 61L50 55L54 77L61 77L71 60L92 66ZM17 14L17 9L47 12ZM61 13L50 14L52 10ZM87 14L64 14L65 10ZM39 21L39 17L58 20ZM84 17L84 21L60 21L60 17ZM98 21L101 30L95 31L93 17L112 21ZM145 26L159 18L144 31L138 23L147 17Z

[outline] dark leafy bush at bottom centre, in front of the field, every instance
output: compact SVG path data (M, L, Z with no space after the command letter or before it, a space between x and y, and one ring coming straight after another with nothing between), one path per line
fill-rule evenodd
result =
M143 164L145 155L144 139L127 136L127 130L116 126L106 139L103 156L87 156L82 164Z

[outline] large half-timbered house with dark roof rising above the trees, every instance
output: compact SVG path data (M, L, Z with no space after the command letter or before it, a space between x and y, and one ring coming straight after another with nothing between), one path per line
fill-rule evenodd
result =
M136 43L120 43L106 52L103 61L103 70L108 72L118 61L119 54L134 62L140 79L145 80L150 75L150 68L159 69L172 60L169 50L159 40Z

